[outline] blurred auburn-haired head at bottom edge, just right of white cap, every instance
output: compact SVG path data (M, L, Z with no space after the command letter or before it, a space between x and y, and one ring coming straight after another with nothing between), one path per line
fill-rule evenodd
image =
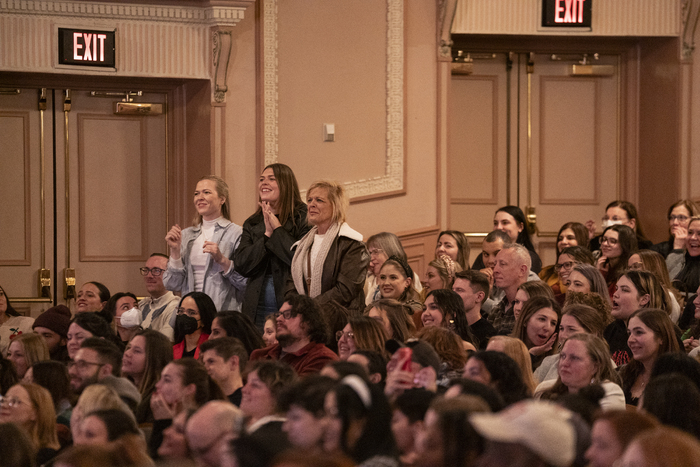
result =
M657 426L658 420L643 412L599 412L591 429L591 445L586 450L590 467L613 467L635 436Z

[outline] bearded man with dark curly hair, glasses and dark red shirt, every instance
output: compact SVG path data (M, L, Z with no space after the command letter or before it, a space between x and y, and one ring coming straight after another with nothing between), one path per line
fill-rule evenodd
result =
M295 295L277 313L277 344L254 350L250 361L280 360L299 376L317 373L338 356L328 347L328 324L319 305L306 295Z

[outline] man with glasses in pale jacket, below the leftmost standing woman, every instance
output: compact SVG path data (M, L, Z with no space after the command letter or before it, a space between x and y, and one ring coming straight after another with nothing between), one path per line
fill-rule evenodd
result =
M146 266L140 269L149 296L139 302L139 310L143 329L158 331L172 341L179 298L163 285L163 272L167 267L168 257L153 253L146 261Z

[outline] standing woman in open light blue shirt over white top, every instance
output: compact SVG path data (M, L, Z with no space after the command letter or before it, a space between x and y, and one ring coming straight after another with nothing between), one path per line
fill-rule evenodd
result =
M228 185L215 175L197 182L193 227L174 225L165 236L170 248L163 284L182 295L204 292L217 310L240 310L246 280L233 270L233 251L242 229L231 222Z

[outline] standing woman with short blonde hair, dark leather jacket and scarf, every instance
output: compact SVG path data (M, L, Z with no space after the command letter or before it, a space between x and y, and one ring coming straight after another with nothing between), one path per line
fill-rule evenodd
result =
M307 192L307 220L313 227L297 243L285 299L308 295L320 305L335 300L361 311L369 254L362 234L345 222L348 198L337 182L314 182Z

